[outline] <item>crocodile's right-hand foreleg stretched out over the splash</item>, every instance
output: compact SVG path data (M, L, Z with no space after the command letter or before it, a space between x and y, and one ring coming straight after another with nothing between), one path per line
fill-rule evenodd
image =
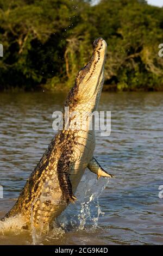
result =
M95 157L93 157L92 160L89 162L87 168L89 168L92 173L97 174L97 179L99 179L101 176L102 177L109 177L109 178L114 177L114 175L107 173L101 167L101 165L98 163L98 161L95 159Z

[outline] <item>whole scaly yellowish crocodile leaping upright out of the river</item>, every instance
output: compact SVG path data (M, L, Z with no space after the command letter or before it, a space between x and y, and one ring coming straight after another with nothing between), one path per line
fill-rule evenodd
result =
M92 113L98 107L104 83L106 42L98 38L93 42L93 53L89 63L81 69L66 99L65 107L71 113ZM76 121L74 121L76 118ZM50 224L65 210L68 203L76 201L77 186L86 168L97 177L109 177L93 156L95 129L89 130L90 118L86 118L87 129L76 129L80 120L70 118L67 130L59 130L45 154L26 182L15 205L4 216L21 215L35 227ZM64 119L65 124L65 119ZM65 127L65 126L64 126Z

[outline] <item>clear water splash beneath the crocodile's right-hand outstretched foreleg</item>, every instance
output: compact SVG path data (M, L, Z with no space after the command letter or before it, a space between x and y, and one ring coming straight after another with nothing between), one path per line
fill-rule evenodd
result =
M70 204L58 217L61 227L67 230L84 230L88 226L92 230L96 229L99 216L104 214L99 205L99 197L108 183L109 179L97 180L95 174L86 170L76 192L76 204Z

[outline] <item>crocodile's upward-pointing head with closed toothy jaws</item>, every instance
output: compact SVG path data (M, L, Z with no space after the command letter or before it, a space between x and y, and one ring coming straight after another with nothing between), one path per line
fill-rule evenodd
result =
M98 38L93 42L90 62L78 72L74 87L71 89L66 105L75 108L78 104L91 102L96 108L104 82L104 62L107 45Z

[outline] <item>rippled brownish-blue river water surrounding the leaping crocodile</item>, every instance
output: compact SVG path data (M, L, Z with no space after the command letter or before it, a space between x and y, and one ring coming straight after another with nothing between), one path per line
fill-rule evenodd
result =
M54 136L52 113L66 95L0 94L0 217L15 203L26 179ZM0 244L163 244L163 93L103 93L100 110L111 111L111 135L96 133L95 156L115 179L86 171L78 201L58 222L66 231L32 236L0 228ZM34 241L35 240L35 241Z

